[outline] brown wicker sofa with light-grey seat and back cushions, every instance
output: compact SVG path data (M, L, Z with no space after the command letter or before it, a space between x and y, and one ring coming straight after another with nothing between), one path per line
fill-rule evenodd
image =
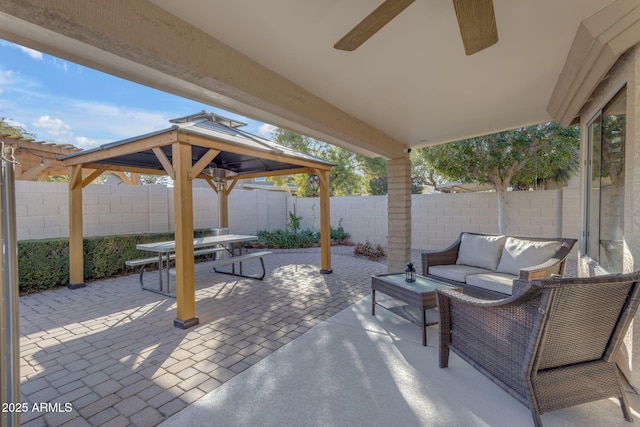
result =
M564 275L575 239L460 233L448 248L422 254L422 274L471 295L504 298L532 280Z

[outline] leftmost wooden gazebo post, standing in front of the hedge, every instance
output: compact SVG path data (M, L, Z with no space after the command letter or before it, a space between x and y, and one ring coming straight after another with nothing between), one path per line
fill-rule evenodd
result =
M69 289L83 288L82 165L69 167Z

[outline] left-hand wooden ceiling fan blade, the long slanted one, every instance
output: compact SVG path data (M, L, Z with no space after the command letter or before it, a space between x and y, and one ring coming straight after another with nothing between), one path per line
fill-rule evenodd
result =
M341 38L333 47L347 51L356 50L362 43L366 42L414 1L415 0L385 0L384 3L364 18L362 22L349 31L347 35Z

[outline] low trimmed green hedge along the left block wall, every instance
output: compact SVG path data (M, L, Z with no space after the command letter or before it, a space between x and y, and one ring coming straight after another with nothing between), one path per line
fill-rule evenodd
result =
M209 234L209 230L194 232L195 237ZM173 233L85 238L83 241L85 280L103 279L137 271L138 267L127 267L124 262L129 259L147 258L152 254L137 250L136 245L165 240L174 240ZM18 277L20 293L66 286L69 283L69 239L19 241Z

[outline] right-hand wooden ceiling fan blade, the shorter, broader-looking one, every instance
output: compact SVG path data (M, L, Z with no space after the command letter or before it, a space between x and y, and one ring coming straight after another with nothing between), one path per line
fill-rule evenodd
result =
M498 42L492 0L453 0L453 6L467 55L473 55Z

